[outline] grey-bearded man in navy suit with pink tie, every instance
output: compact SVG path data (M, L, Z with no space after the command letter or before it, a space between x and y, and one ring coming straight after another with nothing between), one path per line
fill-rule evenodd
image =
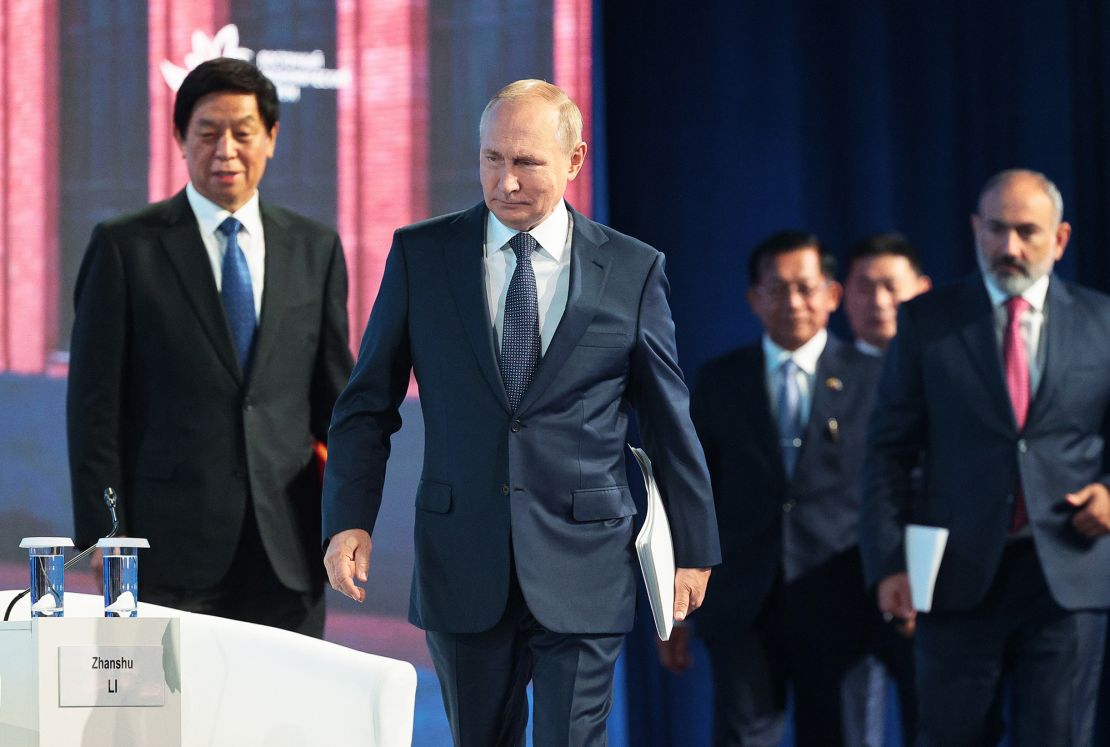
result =
M869 432L861 546L880 608L915 617L910 517L947 527L917 615L920 745L993 738L1012 683L1019 745L1086 745L1110 605L1110 299L1051 274L1070 226L1043 174L987 182L982 274L902 304Z

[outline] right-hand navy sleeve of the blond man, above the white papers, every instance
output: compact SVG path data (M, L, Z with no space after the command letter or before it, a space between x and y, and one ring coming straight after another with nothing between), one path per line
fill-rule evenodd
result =
M690 422L689 392L678 367L663 263L659 254L640 297L629 392L666 502L675 563L700 568L720 563L720 539L705 455Z

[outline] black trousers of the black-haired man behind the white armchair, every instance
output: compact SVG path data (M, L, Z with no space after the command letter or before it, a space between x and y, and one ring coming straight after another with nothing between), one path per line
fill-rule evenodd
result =
M194 589L143 585L141 564L139 578L143 602L324 637L323 584L316 592L294 592L278 579L250 505L231 567L215 586Z

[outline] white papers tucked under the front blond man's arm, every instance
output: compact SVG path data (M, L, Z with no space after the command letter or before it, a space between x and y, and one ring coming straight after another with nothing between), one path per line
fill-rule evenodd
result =
M655 618L655 632L659 640L667 640L675 627L675 547L670 541L670 522L663 507L663 496L652 473L652 460L643 448L629 445L639 470L644 473L644 487L647 488L647 515L644 526L636 535L636 556L639 568L644 573L644 586L647 587L647 598L652 604L652 616Z

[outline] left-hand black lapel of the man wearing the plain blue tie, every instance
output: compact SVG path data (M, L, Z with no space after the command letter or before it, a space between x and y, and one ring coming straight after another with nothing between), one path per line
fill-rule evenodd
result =
M235 381L242 381L228 317L223 312L215 277L212 276L212 265L184 191L178 192L168 205L168 226L161 236L162 250L176 272L189 305L212 342L216 356Z

